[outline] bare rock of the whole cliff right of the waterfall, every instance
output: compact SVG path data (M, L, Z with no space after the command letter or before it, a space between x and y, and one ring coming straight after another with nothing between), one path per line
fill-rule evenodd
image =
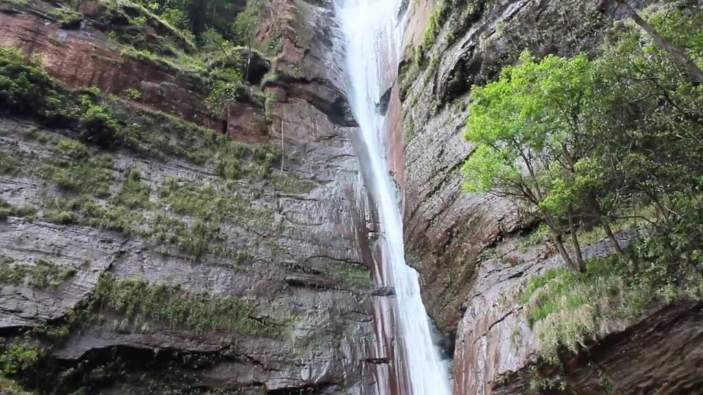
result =
M434 15L428 12L433 8ZM563 263L553 246L526 247L534 224L519 206L462 189L460 167L474 149L463 138L471 87L496 79L524 50L538 57L594 54L612 21L621 18L608 2L420 1L411 6L398 84L406 253L420 271L430 316L453 339L446 351L453 355L455 394L699 391L699 375L682 375L671 354L697 342L701 321L695 302L609 322L598 342L583 344L576 355L560 354L560 368L542 365L536 335L517 299L530 278ZM425 30L434 32L430 39L423 38ZM611 252L607 243L593 242L584 253ZM692 347L681 361L697 363L698 352Z

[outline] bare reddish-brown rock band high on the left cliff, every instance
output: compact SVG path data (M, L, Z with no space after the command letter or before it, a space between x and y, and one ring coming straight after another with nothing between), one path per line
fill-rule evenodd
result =
M41 53L52 75L75 88L98 86L108 94L122 96L138 89L139 101L204 127L219 129L221 121L208 114L203 104L204 86L176 75L176 70L124 56L110 48L103 32L92 27L65 30L34 13L0 13L3 34L0 45Z

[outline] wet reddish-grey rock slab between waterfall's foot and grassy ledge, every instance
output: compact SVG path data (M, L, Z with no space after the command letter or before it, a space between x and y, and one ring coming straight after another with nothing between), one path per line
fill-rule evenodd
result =
M624 240L621 238L624 244ZM585 259L611 254L602 240L583 248ZM552 245L520 245L510 236L490 254L484 254L456 335L455 391L458 394L519 394L530 387L527 370L536 363L538 343L517 298L531 276L565 267ZM624 323L612 323L622 330ZM501 376L523 372L520 383ZM518 391L518 388L521 388ZM580 392L577 392L580 394Z

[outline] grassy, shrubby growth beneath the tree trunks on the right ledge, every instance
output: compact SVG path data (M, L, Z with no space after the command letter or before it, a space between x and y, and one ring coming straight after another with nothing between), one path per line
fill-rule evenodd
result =
M640 229L628 258L588 261L586 271L550 270L529 280L519 301L538 339L538 354L557 361L557 351L579 351L584 339L597 339L647 307L703 294L703 231L699 209L681 210L681 219Z

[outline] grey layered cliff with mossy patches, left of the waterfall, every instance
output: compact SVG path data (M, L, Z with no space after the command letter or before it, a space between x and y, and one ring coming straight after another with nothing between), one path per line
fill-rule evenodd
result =
M259 34L275 24L281 50L261 67L275 78L225 123L197 73L112 41L100 3L69 26L43 2L3 4L0 45L97 87L90 100L146 142L103 150L41 117L0 119L0 335L12 358L30 350L10 372L25 387L375 393L367 203L333 11L268 6Z

